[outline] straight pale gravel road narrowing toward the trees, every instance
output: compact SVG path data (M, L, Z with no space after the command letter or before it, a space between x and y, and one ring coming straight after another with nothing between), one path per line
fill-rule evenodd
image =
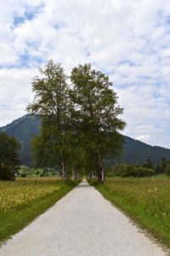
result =
M165 256L86 181L0 248L1 256Z

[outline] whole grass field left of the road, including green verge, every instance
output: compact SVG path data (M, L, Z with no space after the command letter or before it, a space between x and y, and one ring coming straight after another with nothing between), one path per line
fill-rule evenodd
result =
M14 182L1 181L0 241L45 212L77 183L62 183L59 177L19 177Z

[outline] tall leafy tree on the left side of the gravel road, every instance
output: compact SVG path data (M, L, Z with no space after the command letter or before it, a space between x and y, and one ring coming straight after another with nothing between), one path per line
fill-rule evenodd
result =
M32 79L34 102L27 111L42 117L40 136L35 138L33 147L39 165L58 165L62 180L65 179L65 127L68 123L69 97L66 75L60 64L48 61L39 69L40 75ZM38 149L38 144L42 148ZM41 155L42 154L42 155Z

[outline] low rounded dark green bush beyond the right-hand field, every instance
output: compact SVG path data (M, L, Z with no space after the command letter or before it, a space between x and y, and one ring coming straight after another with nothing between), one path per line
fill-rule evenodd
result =
M129 165L131 166L131 165ZM127 168L126 172L122 173L122 177L147 177L147 176L152 176L155 175L156 171L153 169L148 169L144 167L136 167L136 168Z

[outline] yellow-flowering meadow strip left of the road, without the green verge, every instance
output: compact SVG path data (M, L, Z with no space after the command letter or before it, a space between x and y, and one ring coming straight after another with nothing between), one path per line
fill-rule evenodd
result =
M62 186L58 177L16 178L0 182L0 212L20 209L29 203L53 194Z

